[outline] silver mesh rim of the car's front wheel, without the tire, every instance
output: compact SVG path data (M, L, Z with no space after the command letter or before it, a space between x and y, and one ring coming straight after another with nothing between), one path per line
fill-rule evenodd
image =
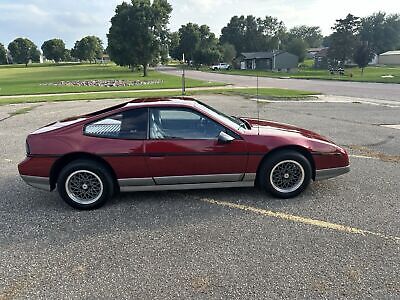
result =
M301 187L305 179L303 166L295 160L278 162L271 170L270 183L281 193L291 193Z

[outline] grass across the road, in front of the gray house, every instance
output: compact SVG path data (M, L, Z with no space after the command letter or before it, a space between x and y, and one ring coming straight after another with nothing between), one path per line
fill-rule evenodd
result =
M203 71L212 72L209 69ZM297 73L267 72L258 70L229 70L216 71L217 73L226 73L233 75L247 75L260 77L290 77L297 79L323 79L323 80L343 80L360 82L382 82L382 83L400 83L400 67L367 67L364 74L357 67L346 68L345 75L331 75L327 70L317 70L310 67L299 68ZM391 75L393 78L382 78L382 76Z

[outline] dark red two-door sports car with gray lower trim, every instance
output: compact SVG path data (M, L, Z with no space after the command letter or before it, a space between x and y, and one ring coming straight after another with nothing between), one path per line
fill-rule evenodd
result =
M30 185L78 209L115 192L260 186L300 194L349 172L346 151L295 126L227 116L192 98L137 99L49 124L26 140Z

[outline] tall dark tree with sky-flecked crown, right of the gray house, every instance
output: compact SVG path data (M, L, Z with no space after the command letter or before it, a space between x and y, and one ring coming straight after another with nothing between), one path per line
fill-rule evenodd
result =
M345 19L336 20L332 27L334 32L330 37L331 46L328 51L329 58L345 64L354 56L357 45L357 35L360 28L360 18L348 14Z

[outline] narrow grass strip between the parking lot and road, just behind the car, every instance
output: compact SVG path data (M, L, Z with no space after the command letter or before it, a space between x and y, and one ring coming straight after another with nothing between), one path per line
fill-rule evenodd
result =
M200 94L222 94L222 95L239 95L246 98L256 98L257 90L249 88L240 89L208 89L200 91L187 91L187 96ZM308 91L261 88L258 91L260 99L282 99L282 100L298 100L309 98L317 93ZM100 100L100 99L123 99L123 98L143 98L143 97L172 97L181 96L179 91L132 91L132 92L108 92L108 93L92 93L92 94L70 94L70 95L51 95L40 97L4 97L0 98L0 105L15 103L37 103L37 102L54 102L54 101L76 101L76 100Z

